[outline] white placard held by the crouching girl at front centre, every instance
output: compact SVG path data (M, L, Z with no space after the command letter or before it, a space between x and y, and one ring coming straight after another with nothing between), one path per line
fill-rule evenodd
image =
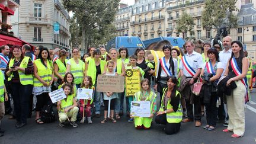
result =
M132 117L150 117L150 101L132 101L130 114Z

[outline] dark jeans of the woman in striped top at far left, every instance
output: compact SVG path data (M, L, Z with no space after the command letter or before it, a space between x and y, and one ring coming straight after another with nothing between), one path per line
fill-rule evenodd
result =
M27 123L28 102L32 90L33 85L11 84L11 95L14 100L16 120L21 123Z

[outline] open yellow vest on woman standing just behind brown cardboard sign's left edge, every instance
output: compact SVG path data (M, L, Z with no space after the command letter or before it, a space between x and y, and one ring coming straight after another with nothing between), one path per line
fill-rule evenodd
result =
M91 76L92 78L92 85L95 85L95 81L96 81L96 65L95 65L95 60L94 59L90 59L88 61L88 69L87 69L87 75ZM105 67L105 61L104 60L100 60L100 68L101 68L101 73L104 72L104 67Z

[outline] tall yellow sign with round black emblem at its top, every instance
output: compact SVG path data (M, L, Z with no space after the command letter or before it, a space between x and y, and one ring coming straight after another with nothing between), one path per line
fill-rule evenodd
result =
M126 69L126 96L135 95L140 90L139 69Z

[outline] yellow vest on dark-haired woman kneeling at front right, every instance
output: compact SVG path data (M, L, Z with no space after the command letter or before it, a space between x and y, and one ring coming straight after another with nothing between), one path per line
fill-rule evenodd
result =
M167 92L167 89L168 88L164 88L163 89L163 95L162 95L162 103L161 103L161 107L159 109L159 111L164 111L164 95L165 95L165 92ZM176 97L177 95L179 95L180 92L176 91ZM172 105L171 105L171 98L169 98L169 101L167 103L167 109L170 109L172 108ZM183 118L183 113L181 112L181 105L179 104L178 106L178 110L174 113L167 113L167 122L168 123L180 123L181 120Z

